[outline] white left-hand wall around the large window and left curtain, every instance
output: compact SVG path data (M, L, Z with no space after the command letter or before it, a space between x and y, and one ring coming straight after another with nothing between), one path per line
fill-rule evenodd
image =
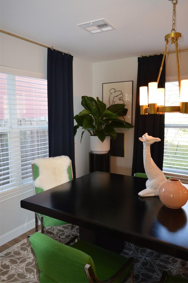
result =
M0 33L0 64L40 73L47 78L47 49L19 38ZM92 64L73 58L73 93L75 115L81 111L81 96L92 95ZM88 136L80 145L80 131L75 137L76 177L88 173ZM20 201L33 195L33 188L15 193L10 197L1 194L0 203L0 245L32 229L34 212L20 207Z

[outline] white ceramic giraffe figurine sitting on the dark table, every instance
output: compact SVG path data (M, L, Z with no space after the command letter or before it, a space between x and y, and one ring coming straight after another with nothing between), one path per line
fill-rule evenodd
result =
M159 142L160 138L153 138L151 135L145 133L139 140L143 142L144 169L148 180L146 181L146 189L139 192L138 195L140 197L159 195L159 187L166 182L167 179L151 158L150 145Z

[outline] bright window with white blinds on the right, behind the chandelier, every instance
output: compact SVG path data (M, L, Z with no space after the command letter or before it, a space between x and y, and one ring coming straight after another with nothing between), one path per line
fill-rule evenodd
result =
M179 83L165 83L165 106L179 105ZM163 171L188 175L188 115L165 113Z

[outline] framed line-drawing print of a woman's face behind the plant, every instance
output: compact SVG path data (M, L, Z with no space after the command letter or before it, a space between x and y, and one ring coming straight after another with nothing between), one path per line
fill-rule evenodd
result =
M133 81L103 83L103 102L108 108L112 104L125 104L128 109L125 121L132 124L132 86Z

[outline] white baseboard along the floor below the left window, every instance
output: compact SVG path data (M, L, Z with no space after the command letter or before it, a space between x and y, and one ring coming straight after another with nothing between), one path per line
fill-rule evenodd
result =
M35 220L30 220L28 223L25 223L19 227L17 227L14 230L9 231L8 233L5 233L4 235L0 236L0 245L4 245L7 242L13 240L16 237L19 237L20 235L24 234L25 232L33 229L35 227Z

